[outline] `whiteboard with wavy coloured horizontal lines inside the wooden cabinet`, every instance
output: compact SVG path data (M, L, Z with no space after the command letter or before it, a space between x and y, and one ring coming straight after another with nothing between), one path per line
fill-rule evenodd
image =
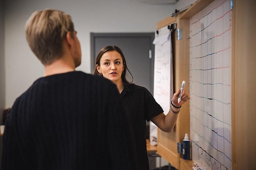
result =
M192 160L231 170L230 0L215 0L190 18Z

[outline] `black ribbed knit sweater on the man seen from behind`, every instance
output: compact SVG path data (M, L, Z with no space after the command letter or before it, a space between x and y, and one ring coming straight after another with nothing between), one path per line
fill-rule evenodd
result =
M116 86L68 72L37 79L18 97L3 136L2 170L132 170Z

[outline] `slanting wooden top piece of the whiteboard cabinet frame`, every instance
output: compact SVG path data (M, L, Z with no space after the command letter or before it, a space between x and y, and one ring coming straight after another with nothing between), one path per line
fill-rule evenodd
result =
M189 7L183 14L180 15L180 19L189 19L200 10L204 9L207 5L212 3L214 0L197 0L192 6Z

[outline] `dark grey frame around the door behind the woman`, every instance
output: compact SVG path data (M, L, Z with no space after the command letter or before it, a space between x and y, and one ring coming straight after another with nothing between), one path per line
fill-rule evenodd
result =
M91 74L93 74L94 71L94 62L96 59L96 55L94 53L94 48L95 48L95 39L99 37L149 37L151 41L151 61L150 61L150 88L152 90L152 93L154 91L154 56L155 56L155 45L153 44L154 38L155 38L155 33L154 32L149 32L149 33L90 33L90 43L91 43ZM153 94L152 94L153 95Z

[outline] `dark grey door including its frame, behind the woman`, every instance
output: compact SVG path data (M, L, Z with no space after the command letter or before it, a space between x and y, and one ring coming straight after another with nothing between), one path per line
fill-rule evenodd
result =
M91 73L98 51L104 46L118 46L125 55L134 83L153 94L154 33L91 33ZM129 73L126 73L129 78Z

